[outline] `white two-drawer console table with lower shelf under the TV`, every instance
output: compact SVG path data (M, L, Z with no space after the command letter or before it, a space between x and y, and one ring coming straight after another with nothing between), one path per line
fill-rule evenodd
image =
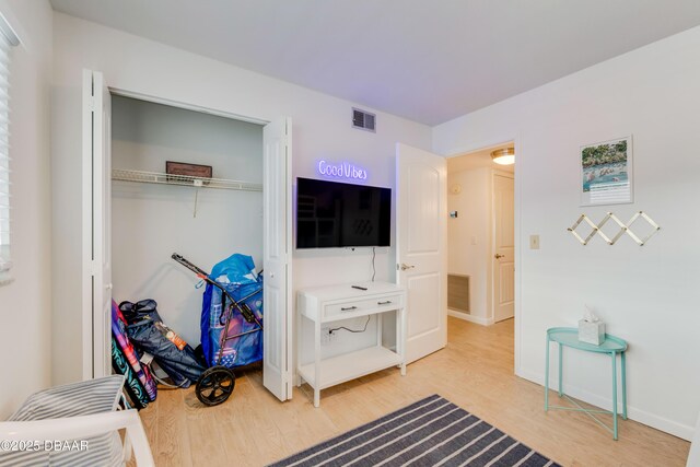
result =
M352 285L366 290L353 289ZM300 320L298 349L301 349L303 338L301 320L310 319L314 324L314 360L302 364L301 359L298 359L296 370L301 378L314 388L314 407L320 404L320 389L390 366L399 366L401 375L406 375L405 306L406 289L388 282L358 282L304 289L298 292L296 310ZM396 312L395 350L384 347L382 342L380 315L387 312ZM375 346L322 359L322 324L369 315L377 316Z

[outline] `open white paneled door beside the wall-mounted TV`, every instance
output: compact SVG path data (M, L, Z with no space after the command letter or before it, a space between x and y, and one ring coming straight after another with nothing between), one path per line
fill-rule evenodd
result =
M397 281L408 289L406 362L447 342L447 188L444 157L396 145Z

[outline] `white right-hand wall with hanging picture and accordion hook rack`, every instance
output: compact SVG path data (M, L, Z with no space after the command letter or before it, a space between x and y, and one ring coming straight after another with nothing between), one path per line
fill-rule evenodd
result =
M629 342L631 418L685 439L700 409L698 83L700 27L433 131L441 154L515 138L518 374L542 383L546 329L575 326L588 304ZM627 135L634 203L579 207L580 145ZM643 247L629 237L582 246L567 232L582 212L598 220L608 210L625 220L643 210L662 230ZM526 249L530 234L541 249ZM609 359L565 359L565 388L609 407Z

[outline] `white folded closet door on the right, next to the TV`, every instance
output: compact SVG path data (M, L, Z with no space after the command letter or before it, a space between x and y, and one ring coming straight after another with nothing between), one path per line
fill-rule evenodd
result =
M280 400L292 398L292 121L262 130L262 268L265 320L262 384Z

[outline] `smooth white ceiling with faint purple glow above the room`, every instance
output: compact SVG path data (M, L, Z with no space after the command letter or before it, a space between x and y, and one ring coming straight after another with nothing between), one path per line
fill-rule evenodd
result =
M700 24L698 0L51 4L431 126Z

